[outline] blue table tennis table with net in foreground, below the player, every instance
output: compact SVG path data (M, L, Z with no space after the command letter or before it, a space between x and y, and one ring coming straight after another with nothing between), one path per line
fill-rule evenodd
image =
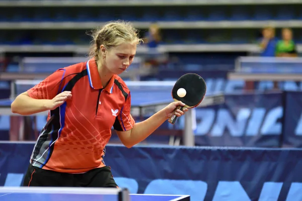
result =
M190 201L189 195L129 194L127 189L0 187L2 201Z

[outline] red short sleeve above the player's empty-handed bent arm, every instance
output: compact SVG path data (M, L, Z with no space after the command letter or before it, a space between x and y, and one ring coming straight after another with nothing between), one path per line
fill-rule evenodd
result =
M65 69L58 69L40 83L27 90L30 97L35 99L52 99L60 91Z

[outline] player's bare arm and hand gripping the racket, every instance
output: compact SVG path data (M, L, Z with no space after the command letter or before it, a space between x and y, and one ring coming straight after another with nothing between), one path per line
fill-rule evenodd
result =
M184 104L181 102L171 103L169 106L157 112L148 119L139 123L135 123L131 130L116 131L116 133L121 142L126 147L130 148L151 135L157 128L159 128L166 120L168 120L172 116L175 108L180 105L184 106ZM178 110L175 114L180 117L187 111L188 109L184 109L183 111Z

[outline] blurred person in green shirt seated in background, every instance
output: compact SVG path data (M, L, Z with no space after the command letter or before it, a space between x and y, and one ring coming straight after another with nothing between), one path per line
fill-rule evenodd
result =
M276 45L275 55L278 57L296 57L296 45L292 40L292 31L289 28L282 29L282 40Z

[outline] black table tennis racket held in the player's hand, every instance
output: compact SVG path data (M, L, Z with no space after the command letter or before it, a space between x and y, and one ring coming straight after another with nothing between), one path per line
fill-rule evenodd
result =
M177 94L178 89L184 88L186 90L186 94L183 97L180 97ZM195 73L187 73L182 75L174 84L172 89L172 97L174 101L181 101L185 104L184 107L178 106L172 117L168 120L171 124L176 122L177 116L175 112L179 110L183 110L184 108L195 108L197 107L202 99L205 96L206 92L206 84L204 79Z

